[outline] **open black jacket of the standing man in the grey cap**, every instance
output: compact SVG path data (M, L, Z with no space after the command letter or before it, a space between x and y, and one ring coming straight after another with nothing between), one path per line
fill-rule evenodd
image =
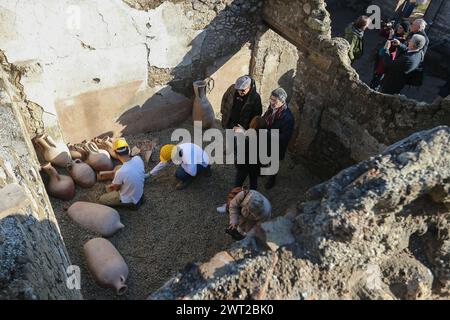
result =
M230 120L235 94L236 89L234 88L234 85L231 85L222 98L221 113L222 113L223 128L227 128L228 121ZM250 121L252 121L254 117L260 116L261 114L262 114L261 97L259 93L256 91L255 80L252 79L251 90L248 93L247 101L242 107L239 124L243 126L245 129L248 129Z

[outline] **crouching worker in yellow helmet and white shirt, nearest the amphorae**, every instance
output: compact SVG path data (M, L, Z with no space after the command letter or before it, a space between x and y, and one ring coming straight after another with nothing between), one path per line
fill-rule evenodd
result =
M114 175L112 184L106 186L108 191L100 197L99 202L110 207L126 207L137 210L144 202L144 161L141 157L130 154L130 147L125 139L114 142L122 167Z

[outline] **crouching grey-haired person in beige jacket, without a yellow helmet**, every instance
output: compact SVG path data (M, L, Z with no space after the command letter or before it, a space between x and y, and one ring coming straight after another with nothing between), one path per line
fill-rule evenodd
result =
M225 230L234 240L242 240L255 227L271 217L269 200L256 190L234 188L228 195L230 225Z

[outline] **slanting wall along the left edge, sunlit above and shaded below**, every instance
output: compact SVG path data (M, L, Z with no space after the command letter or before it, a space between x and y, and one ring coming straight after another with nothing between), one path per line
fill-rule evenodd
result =
M66 286L71 264L39 175L29 103L14 68L0 66L0 300L81 299Z

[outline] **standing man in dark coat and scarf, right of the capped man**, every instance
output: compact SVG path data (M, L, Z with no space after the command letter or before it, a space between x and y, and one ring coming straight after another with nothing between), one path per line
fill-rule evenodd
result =
M269 134L272 130L279 130L279 150L280 159L284 160L289 141L294 133L295 119L291 110L286 103L287 93L283 88L272 91L270 96L270 107L264 114L263 118L267 122ZM268 139L270 142L270 139ZM271 150L270 147L268 150ZM265 187L272 189L275 186L277 175L269 176Z

